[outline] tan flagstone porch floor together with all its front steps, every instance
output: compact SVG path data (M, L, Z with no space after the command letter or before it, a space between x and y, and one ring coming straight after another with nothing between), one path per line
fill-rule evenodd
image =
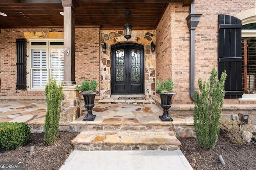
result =
M41 133L46 110L46 103L0 103L0 122L25 122L32 133ZM94 121L82 121L84 108L76 121L59 123L61 131L81 132L72 141L76 150L176 150L181 145L176 134L194 136L193 117L162 122L156 104L96 103L92 113Z

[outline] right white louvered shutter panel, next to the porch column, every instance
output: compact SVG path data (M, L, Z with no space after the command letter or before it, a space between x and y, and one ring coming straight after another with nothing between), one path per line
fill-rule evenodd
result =
M64 51L63 49L50 49L50 74L52 80L62 82L64 80Z

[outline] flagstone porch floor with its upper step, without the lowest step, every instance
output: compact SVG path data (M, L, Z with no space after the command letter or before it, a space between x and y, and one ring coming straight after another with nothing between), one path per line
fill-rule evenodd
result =
M46 103L0 103L0 122L25 122L34 126L32 132L42 132L39 126L44 125L46 110ZM76 121L60 122L60 130L173 130L172 125L193 125L193 117L184 116L171 116L173 122L162 122L159 115L163 110L156 104L98 103L92 113L96 115L94 121L82 121L87 114L82 109L82 116Z

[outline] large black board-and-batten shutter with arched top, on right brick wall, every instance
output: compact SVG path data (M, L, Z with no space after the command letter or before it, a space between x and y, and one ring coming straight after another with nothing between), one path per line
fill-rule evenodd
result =
M242 21L228 15L219 15L218 76L226 70L225 98L242 98Z

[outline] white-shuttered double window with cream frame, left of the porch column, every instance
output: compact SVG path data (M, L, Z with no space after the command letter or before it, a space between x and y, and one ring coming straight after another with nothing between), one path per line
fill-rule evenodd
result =
M50 78L63 81L63 39L28 39L28 42L28 89L44 90Z

